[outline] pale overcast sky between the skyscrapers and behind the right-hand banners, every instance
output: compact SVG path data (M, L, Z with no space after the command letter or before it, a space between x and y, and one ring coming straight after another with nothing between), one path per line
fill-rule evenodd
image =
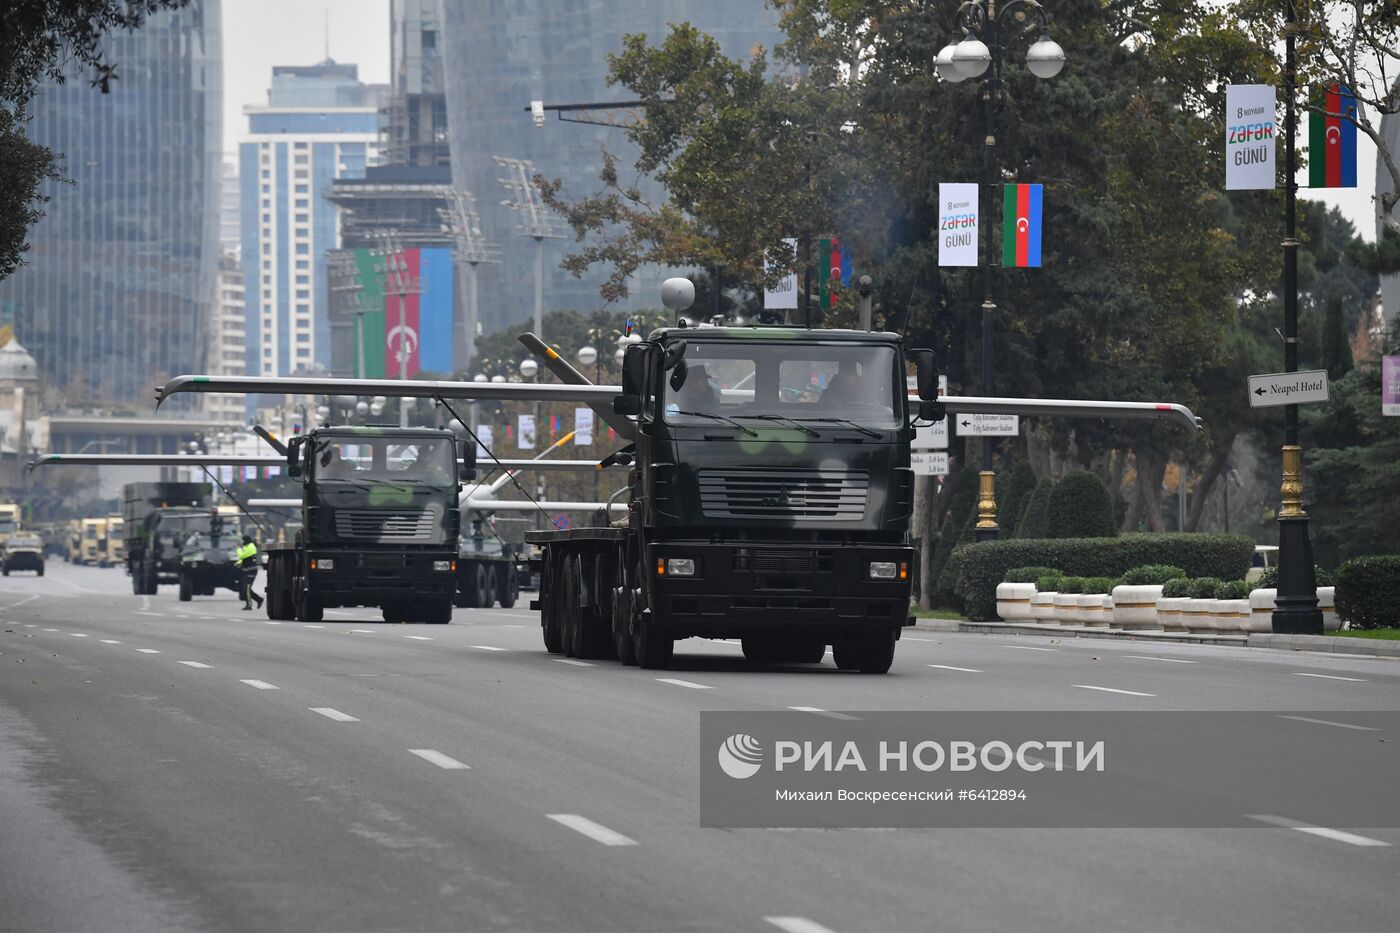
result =
M238 151L238 140L248 130L244 106L267 102L272 66L314 64L325 59L328 22L330 57L358 64L360 80L367 84L389 80L389 0L224 0L223 8L224 151L231 161ZM1306 120L1299 122L1299 140L1306 141ZM1338 206L1362 237L1375 240L1372 193L1376 150L1361 133L1357 133L1357 141L1359 188L1330 192L1303 189L1301 196ZM1282 157L1280 146L1278 158ZM1306 174L1301 174L1299 181L1306 184Z

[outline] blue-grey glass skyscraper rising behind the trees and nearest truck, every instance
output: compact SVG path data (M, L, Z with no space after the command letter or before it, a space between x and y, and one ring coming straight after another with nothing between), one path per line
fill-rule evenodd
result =
M630 97L608 85L608 55L622 38L644 32L661 42L668 24L692 22L715 36L725 55L748 57L755 45L781 39L777 14L762 0L442 0L442 64L447 78L452 181L470 191L486 235L504 247L503 262L480 280L486 332L533 312L535 244L514 233L514 217L493 156L529 158L546 178L564 179L578 198L598 189L602 150L626 171L636 150L619 129L566 123L553 115L533 126L532 99L588 104ZM573 245L545 241L545 307L598 308L602 275L574 279L559 269ZM659 305L659 282L643 280L638 307Z

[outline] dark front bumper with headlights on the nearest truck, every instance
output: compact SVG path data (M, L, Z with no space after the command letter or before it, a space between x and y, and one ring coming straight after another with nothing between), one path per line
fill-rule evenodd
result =
M651 618L673 637L853 633L909 623L913 548L678 541L655 544L647 556ZM668 572L671 558L694 560L694 574ZM872 562L893 565L895 577L871 579Z

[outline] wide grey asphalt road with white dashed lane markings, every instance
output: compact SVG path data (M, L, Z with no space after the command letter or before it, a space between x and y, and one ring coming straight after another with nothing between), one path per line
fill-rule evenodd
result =
M1344 719L1400 663L909 632L885 677L643 671L519 608L272 623L50 562L0 583L0 929L1396 929L1400 829L700 828L699 713L784 709Z

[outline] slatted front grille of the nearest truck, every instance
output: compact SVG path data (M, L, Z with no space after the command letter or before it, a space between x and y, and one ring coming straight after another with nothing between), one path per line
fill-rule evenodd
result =
M708 518L860 521L869 475L840 469L701 469L700 509Z

